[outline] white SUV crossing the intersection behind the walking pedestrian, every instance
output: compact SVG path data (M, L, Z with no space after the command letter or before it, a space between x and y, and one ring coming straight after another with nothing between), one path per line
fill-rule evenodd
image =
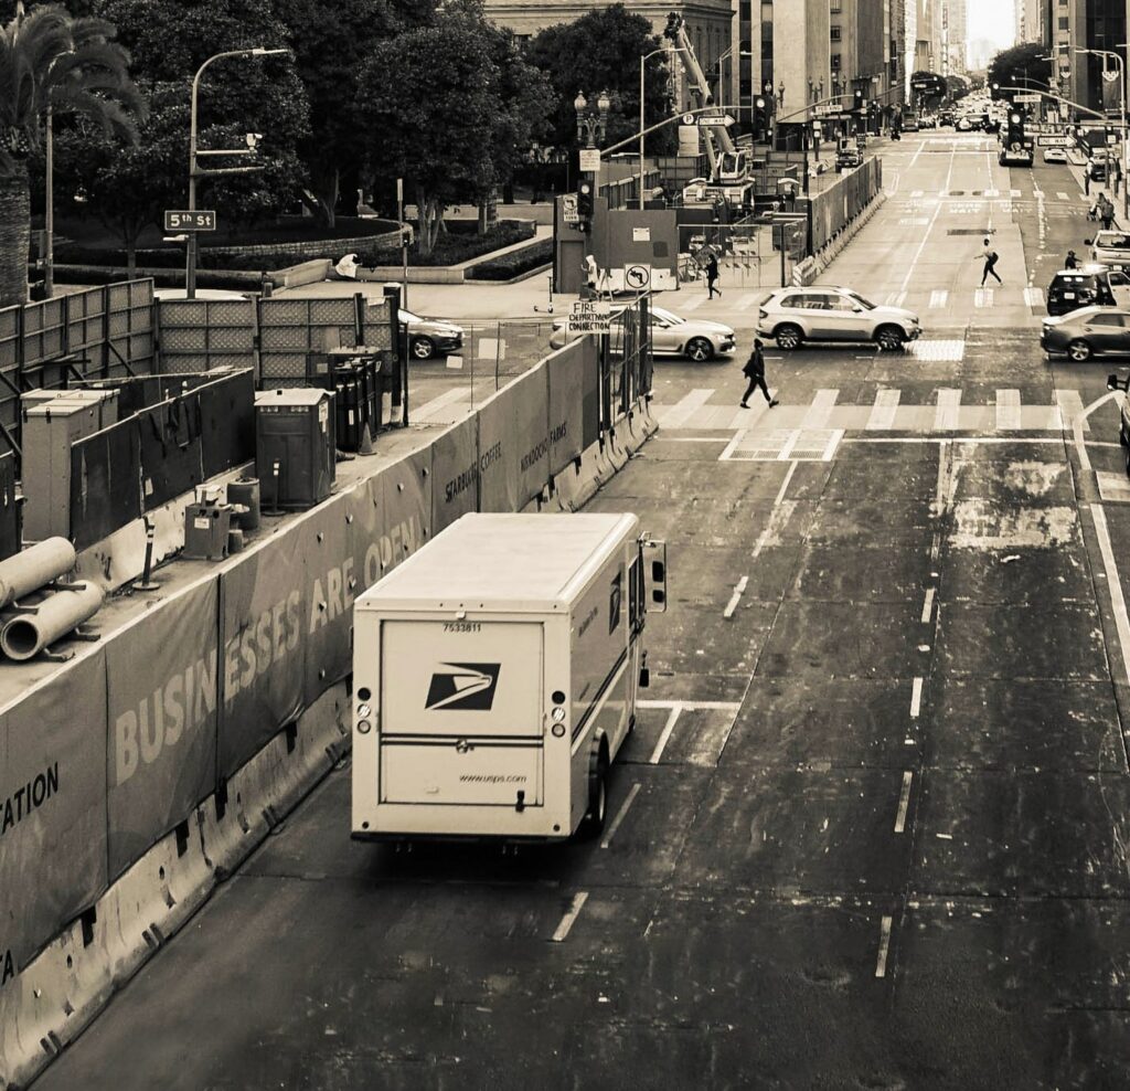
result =
M762 303L757 332L781 348L801 341L875 341L895 352L922 335L919 318L897 306L876 306L851 288L814 284L777 288Z

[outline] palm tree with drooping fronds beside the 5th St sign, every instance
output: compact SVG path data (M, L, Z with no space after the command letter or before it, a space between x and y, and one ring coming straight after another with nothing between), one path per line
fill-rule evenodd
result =
M16 17L0 31L0 306L27 298L31 184L27 158L49 115L75 114L133 141L144 110L129 53L105 19L75 18L59 5Z

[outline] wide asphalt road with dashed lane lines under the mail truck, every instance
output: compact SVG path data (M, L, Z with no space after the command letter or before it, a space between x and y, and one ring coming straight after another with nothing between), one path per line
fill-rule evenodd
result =
M1124 1086L1130 487L1112 367L1036 345L1078 185L985 147L907 136L825 278L911 353L659 365L591 505L672 596L603 840L355 845L337 771L37 1086Z

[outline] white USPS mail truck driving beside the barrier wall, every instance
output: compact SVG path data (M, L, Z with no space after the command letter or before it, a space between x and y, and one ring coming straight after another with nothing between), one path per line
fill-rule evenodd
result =
M353 835L603 826L666 545L632 514L468 514L354 605Z

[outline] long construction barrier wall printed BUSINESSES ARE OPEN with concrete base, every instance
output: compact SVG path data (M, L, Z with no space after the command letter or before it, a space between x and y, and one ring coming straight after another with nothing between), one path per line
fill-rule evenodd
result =
M567 345L0 709L0 1085L46 1064L348 747L357 595L464 511L575 505L614 443L641 441L643 310L615 364L607 337Z

